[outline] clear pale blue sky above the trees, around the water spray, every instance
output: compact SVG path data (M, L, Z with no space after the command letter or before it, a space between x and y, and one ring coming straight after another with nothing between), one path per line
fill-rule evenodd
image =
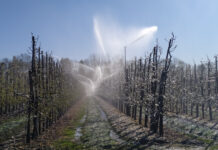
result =
M174 56L186 62L218 54L216 0L0 0L0 58L27 52L31 32L55 56L86 58L94 52L95 15L122 27L156 25L163 48L174 32Z

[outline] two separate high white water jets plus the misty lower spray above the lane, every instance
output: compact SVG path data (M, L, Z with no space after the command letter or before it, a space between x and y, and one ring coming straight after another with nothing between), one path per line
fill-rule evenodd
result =
M87 94L88 95L93 95L96 92L96 89L101 85L102 82L104 82L105 80L114 77L115 75L117 75L117 73L119 73L122 68L123 68L123 64L119 65L117 64L117 62L115 61L110 61L109 64L103 64L101 63L102 61L102 56L103 58L105 58L106 56L109 56L109 54L111 54L111 49L109 47L107 47L108 41L105 41L106 39L104 39L104 32L101 32L102 30L100 30L100 26L99 26L99 22L97 20L97 18L94 17L93 19L93 30L94 30L94 34L96 37L96 41L98 43L98 45L100 46L100 50L101 50L101 55L100 56L100 64L98 64L97 66L91 67L89 65L86 64L82 64L82 63L75 63L74 66L76 66L74 69L74 73L77 74L75 75L76 78L84 85L84 87L86 88ZM122 45L124 46L124 65L125 65L125 69L126 69L126 50L127 47L130 47L132 44L135 44L137 41L140 41L141 39L143 39L145 36L151 36L153 35L153 33L155 33L157 31L157 27L153 26L153 27L149 27L149 28L143 28L141 30L138 30L138 34L134 33L131 37L131 40L128 40L130 42L128 42L127 44L122 43ZM112 33L109 33L112 34ZM122 40L122 39L120 39ZM118 40L119 42L119 40ZM117 47L117 51L121 50L122 46L120 45L120 47ZM122 54L122 51L120 51ZM109 70L109 71L108 71Z

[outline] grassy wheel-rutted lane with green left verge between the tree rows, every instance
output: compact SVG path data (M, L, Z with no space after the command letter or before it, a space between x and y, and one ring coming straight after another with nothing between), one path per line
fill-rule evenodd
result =
M55 149L101 150L117 149L124 141L113 132L103 110L94 97L85 100L75 118L63 129L61 137L54 142Z

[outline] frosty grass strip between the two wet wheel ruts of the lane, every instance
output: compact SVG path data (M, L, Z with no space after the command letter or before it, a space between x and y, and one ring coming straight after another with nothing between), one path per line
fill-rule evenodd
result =
M117 149L123 141L112 136L113 130L107 116L94 99L89 99L87 119L82 130L81 142L84 149Z

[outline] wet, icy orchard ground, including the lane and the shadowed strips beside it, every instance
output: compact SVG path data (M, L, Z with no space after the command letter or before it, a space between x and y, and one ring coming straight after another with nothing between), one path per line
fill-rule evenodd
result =
M164 119L165 135L150 134L147 128L120 113L97 96L87 97L48 134L42 135L29 149L218 149L217 128L184 116ZM210 125L211 124L211 125ZM51 138L52 137L52 138ZM15 137L16 138L16 137ZM6 147L22 149L22 142L6 141ZM23 147L23 149L28 149Z

